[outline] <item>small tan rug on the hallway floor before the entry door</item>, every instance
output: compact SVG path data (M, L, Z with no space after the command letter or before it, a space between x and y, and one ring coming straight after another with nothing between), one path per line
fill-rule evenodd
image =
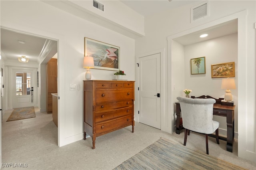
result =
M35 109L34 107L22 107L22 108L15 108L12 111L12 114L10 117L7 119L6 122L8 121L16 121L20 119L28 119L36 117Z

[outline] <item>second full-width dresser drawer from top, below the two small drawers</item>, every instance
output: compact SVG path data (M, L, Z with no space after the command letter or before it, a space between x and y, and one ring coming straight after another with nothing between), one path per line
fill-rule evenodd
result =
M110 102L110 103L100 103L96 105L95 111L105 111L108 109L118 109L121 107L129 107L133 105L132 100L127 100L127 101L115 101L115 102Z

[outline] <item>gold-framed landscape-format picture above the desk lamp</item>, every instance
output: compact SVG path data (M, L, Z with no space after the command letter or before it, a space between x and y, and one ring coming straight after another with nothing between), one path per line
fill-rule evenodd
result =
M212 78L235 77L235 62L212 64Z

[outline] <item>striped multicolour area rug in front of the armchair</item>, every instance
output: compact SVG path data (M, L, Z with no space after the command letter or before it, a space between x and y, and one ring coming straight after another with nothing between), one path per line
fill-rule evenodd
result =
M239 166L160 138L114 170L244 170Z

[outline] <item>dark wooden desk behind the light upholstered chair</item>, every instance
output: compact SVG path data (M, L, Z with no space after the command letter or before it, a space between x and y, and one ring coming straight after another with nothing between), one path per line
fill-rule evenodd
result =
M234 109L236 106L224 106L220 104L213 105L213 115L223 116L227 119L227 138L219 137L221 140L227 141L227 150L229 152L233 152L233 141L234 141ZM182 118L180 117L180 103L176 103L176 133L180 134L180 130L182 130ZM214 134L210 134L209 136L215 137Z

